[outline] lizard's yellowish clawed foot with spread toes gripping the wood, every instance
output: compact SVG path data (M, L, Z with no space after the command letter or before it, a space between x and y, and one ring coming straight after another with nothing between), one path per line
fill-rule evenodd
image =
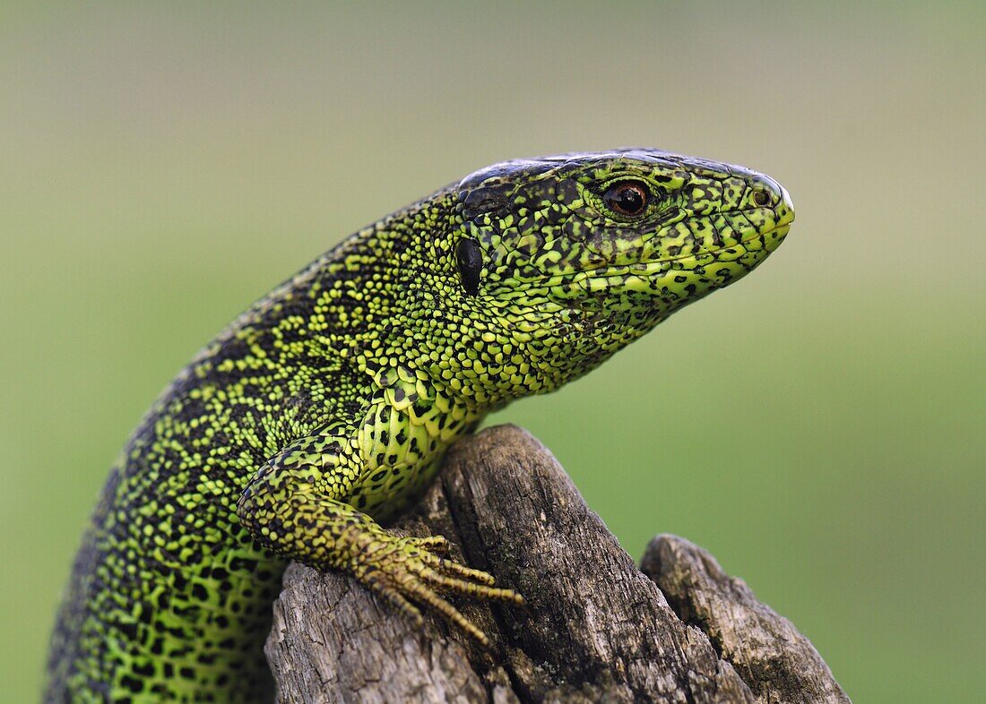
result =
M524 597L511 589L493 586L493 576L446 557L450 543L442 536L397 538L388 533L374 537L354 556L356 578L387 600L415 625L423 622L412 602L434 608L484 647L489 638L438 591L473 599L510 602L523 606ZM436 591L438 590L438 591Z

